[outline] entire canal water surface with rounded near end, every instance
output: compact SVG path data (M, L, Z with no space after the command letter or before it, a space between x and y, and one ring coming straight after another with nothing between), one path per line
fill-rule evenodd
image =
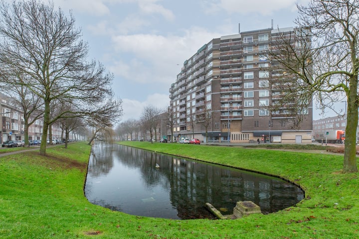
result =
M225 215L253 201L268 214L304 197L278 178L105 143L92 147L85 194L111 210L171 219L213 218L206 202Z

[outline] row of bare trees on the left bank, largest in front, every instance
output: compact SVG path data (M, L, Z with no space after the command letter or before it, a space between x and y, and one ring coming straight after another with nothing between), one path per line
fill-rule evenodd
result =
M88 45L71 12L40 0L1 1L0 36L1 90L23 111L25 140L28 126L43 119L40 154L55 122L67 139L85 125L108 130L122 116L122 101L111 90L113 75L87 60Z

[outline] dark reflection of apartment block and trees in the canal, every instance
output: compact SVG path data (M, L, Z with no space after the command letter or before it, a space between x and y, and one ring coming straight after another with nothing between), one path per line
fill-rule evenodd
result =
M168 192L170 207L177 210L180 219L212 218L204 206L207 202L225 215L233 212L237 201L252 201L267 214L304 198L302 190L278 178L119 147L121 150L115 150L111 156L112 164L118 160L126 168L140 171L140 181L146 184L146 190L160 187Z

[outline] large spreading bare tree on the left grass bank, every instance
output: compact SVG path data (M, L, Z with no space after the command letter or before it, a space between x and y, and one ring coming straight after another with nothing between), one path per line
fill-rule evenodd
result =
M71 13L66 16L60 8L54 9L53 3L46 5L40 0L11 5L2 1L0 35L1 71L29 76L22 82L7 83L23 84L43 101L40 154L46 153L49 125L67 113L51 119L53 101L75 103L75 111L70 113L82 116L111 110L101 103L112 101L113 75L100 63L86 62L88 45L81 40Z

